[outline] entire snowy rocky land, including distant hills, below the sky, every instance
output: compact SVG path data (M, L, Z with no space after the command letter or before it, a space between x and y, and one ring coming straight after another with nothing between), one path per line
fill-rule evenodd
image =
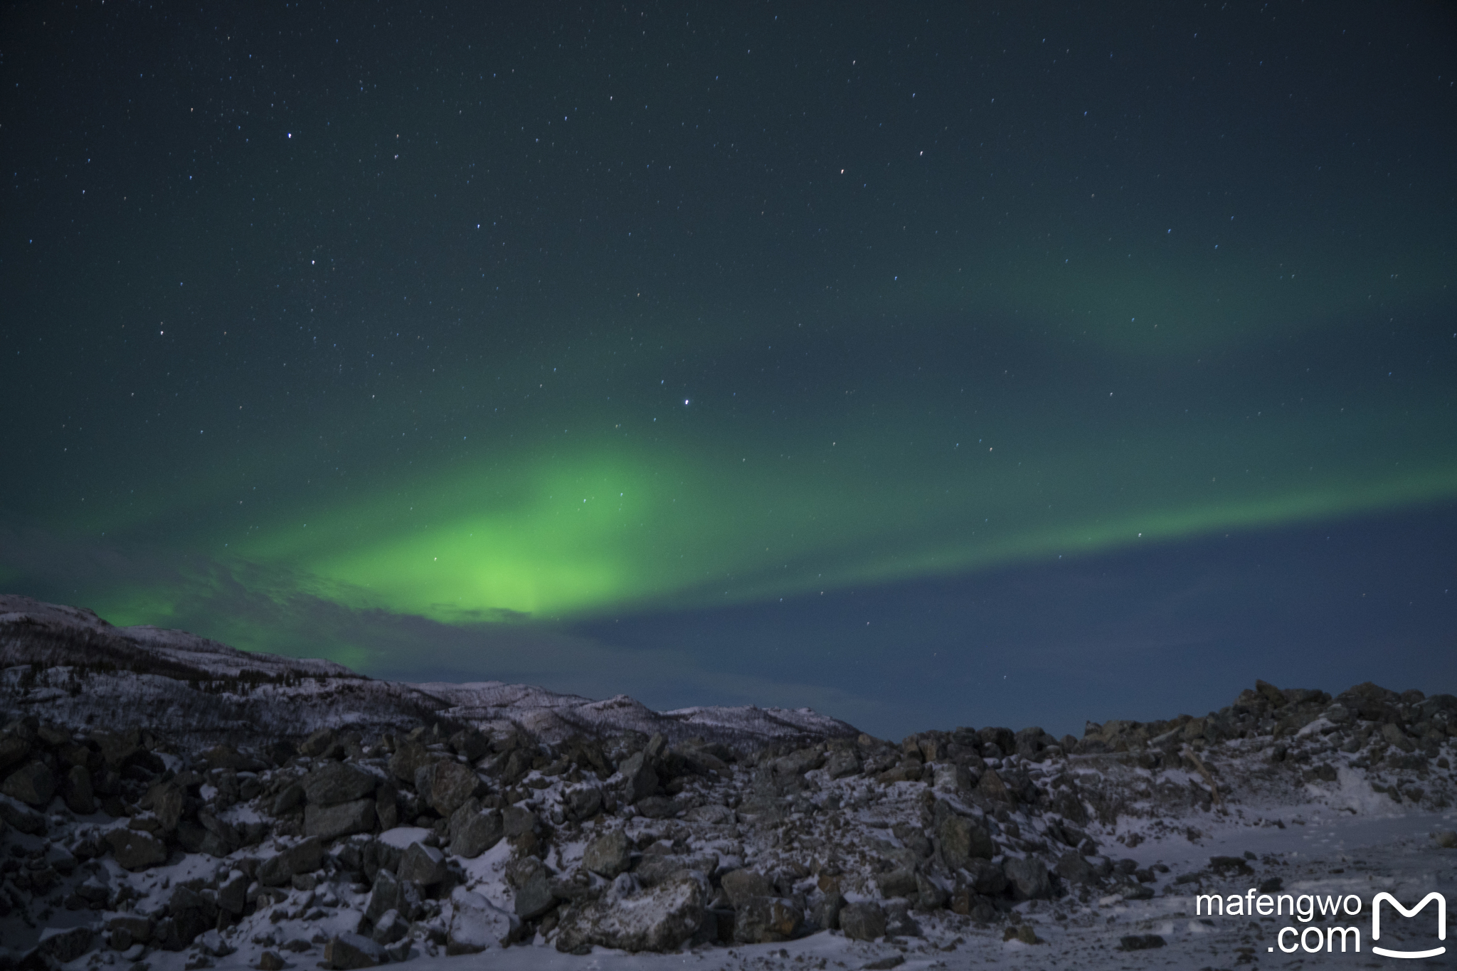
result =
M893 742L388 684L17 597L0 662L0 968L1336 967L1195 897L1457 876L1448 694L1257 681L1081 738Z

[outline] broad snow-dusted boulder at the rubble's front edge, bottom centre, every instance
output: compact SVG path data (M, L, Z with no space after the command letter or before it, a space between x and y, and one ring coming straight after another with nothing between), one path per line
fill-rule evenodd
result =
M651 891L603 898L562 916L557 949L584 946L624 951L675 951L694 936L705 917L704 888L692 878L670 881Z

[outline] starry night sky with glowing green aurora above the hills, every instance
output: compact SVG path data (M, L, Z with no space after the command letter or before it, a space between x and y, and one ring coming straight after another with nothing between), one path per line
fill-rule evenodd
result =
M1438 3L28 3L0 590L879 735L1457 690Z

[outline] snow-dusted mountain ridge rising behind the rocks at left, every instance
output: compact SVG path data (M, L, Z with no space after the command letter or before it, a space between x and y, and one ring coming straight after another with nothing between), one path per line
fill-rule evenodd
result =
M737 750L858 734L810 709L654 712L625 694L599 702L500 681L377 681L332 661L237 651L185 630L115 627L90 610L17 595L0 595L0 713L44 710L71 728L146 725L214 744L302 738L319 728L408 731L437 721L519 728L543 742L634 731L661 732L670 742L696 735Z

